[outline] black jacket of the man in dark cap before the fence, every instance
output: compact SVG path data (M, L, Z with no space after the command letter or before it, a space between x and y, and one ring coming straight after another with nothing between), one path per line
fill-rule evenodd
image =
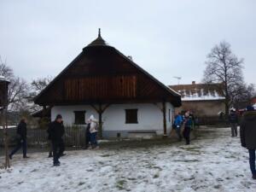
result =
M60 142L65 133L64 125L57 121L53 121L49 124L47 132L49 133L49 140L52 142Z

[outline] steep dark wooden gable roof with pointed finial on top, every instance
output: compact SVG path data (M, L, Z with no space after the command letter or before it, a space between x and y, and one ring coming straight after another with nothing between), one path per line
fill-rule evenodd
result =
M39 105L98 102L172 102L181 97L134 61L108 45L99 31L96 40L35 97Z

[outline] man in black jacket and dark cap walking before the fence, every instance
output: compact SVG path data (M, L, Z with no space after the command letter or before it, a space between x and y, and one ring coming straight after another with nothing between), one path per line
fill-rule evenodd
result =
M53 164L54 166L60 166L61 163L59 158L64 151L64 143L62 137L65 133L61 114L58 114L55 118L55 121L50 123L48 132L49 139L52 143Z

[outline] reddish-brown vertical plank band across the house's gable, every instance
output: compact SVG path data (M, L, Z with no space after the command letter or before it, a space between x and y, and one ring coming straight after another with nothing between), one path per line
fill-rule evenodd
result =
M137 77L119 75L65 80L65 99L69 101L103 98L136 98Z

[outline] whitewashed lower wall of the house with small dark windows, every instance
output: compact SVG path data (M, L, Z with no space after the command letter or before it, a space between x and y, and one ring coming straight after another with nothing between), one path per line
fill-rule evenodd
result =
M103 137L116 137L117 133L121 137L127 137L129 131L156 131L157 135L163 135L163 114L160 111L161 103L154 105L152 103L136 104L114 104L110 105L102 114ZM137 109L138 124L125 124L125 109ZM169 109L171 110L169 119ZM98 114L94 108L89 105L77 106L55 106L51 109L51 119L60 113L64 120L64 125L73 125L74 111L86 111L85 119L89 119L93 114L98 119ZM166 127L169 135L172 129L173 106L166 103Z

